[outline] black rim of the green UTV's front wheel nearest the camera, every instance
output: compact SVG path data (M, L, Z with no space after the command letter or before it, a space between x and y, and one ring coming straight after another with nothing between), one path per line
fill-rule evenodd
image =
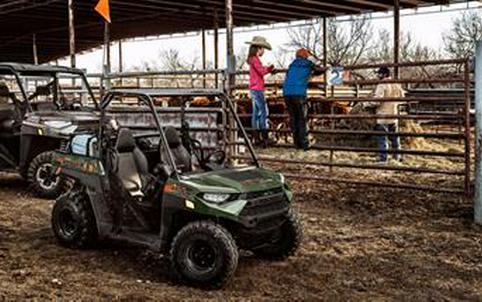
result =
M205 274L216 267L216 250L205 240L194 241L187 250L187 262L191 270Z

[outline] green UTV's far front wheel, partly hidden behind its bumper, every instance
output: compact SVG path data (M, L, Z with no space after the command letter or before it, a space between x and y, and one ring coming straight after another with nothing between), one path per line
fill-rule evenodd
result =
M284 260L294 255L303 239L303 228L296 212L288 213L275 238L269 245L254 249L253 253L268 260Z

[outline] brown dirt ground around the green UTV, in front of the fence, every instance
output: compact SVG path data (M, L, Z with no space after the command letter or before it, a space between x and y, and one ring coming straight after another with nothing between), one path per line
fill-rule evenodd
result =
M464 198L291 182L305 227L281 263L241 257L220 291L178 286L168 261L116 246L73 251L52 201L0 174L0 300L482 300L482 228Z

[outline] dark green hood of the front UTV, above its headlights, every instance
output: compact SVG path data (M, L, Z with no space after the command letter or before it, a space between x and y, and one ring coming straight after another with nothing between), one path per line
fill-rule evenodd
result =
M182 178L182 182L201 192L212 193L249 193L279 188L283 185L279 173L257 167L186 176Z

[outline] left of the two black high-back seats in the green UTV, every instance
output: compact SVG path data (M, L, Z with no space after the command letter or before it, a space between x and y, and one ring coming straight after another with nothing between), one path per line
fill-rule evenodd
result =
M149 179L147 158L137 147L132 132L119 130L116 143L117 176L132 197L143 197L143 188Z

